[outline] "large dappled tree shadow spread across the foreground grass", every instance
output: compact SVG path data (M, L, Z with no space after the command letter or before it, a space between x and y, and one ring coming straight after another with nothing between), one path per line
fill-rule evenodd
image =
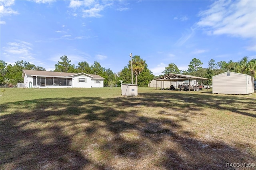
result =
M210 101L210 102L208 102ZM185 116L146 117L140 107L171 109ZM184 93L138 97L37 99L1 105L1 169L225 169L226 163L256 158L221 141L177 132L187 117L236 102L255 111L251 99ZM245 109L232 112L255 118ZM175 109L174 109L175 111ZM150 113L149 113L150 114ZM145 164L145 159L150 159ZM140 165L141 164L141 165ZM136 169L135 168L135 169Z

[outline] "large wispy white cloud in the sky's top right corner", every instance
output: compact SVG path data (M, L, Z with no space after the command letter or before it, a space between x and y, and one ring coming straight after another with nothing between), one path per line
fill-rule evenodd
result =
M234 37L256 37L255 1L216 1L208 10L199 13L199 27L207 28L208 34L227 34Z

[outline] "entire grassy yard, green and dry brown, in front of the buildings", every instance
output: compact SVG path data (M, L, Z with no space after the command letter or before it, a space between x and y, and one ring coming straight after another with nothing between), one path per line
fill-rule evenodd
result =
M256 93L2 90L1 170L240 170L226 164L256 163Z

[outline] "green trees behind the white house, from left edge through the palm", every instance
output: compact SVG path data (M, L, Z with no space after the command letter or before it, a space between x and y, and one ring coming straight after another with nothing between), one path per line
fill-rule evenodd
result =
M139 87L148 87L148 83L154 78L153 73L147 68L146 61L142 60L140 56L133 56L132 63L134 65L133 73L136 77L136 84ZM60 57L60 61L55 64L53 71L66 72L66 73L81 73L97 74L104 77L104 86L119 86L119 80L123 83L131 82L131 62L118 73L114 73L111 69L106 69L100 65L98 61L94 61L89 65L86 61L78 62L78 65L70 64L71 60L66 55ZM46 71L43 67L35 66L26 61L17 61L14 65L7 64L5 61L0 60L0 84L17 84L23 83L22 71L23 69Z

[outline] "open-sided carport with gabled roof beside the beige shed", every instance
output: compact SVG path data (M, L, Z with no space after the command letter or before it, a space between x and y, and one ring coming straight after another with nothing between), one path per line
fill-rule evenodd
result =
M211 80L211 79L207 79L207 78L204 78L204 77L196 77L196 76L192 76L192 75L170 73L170 74L164 75L162 77L158 77L155 80L156 80L156 83L157 83L157 81L176 81L176 83L177 83L177 81L189 81L189 83L188 83L189 88L188 89L190 91L190 81L192 81L192 80L196 80L196 81L207 80L208 81L208 80Z

